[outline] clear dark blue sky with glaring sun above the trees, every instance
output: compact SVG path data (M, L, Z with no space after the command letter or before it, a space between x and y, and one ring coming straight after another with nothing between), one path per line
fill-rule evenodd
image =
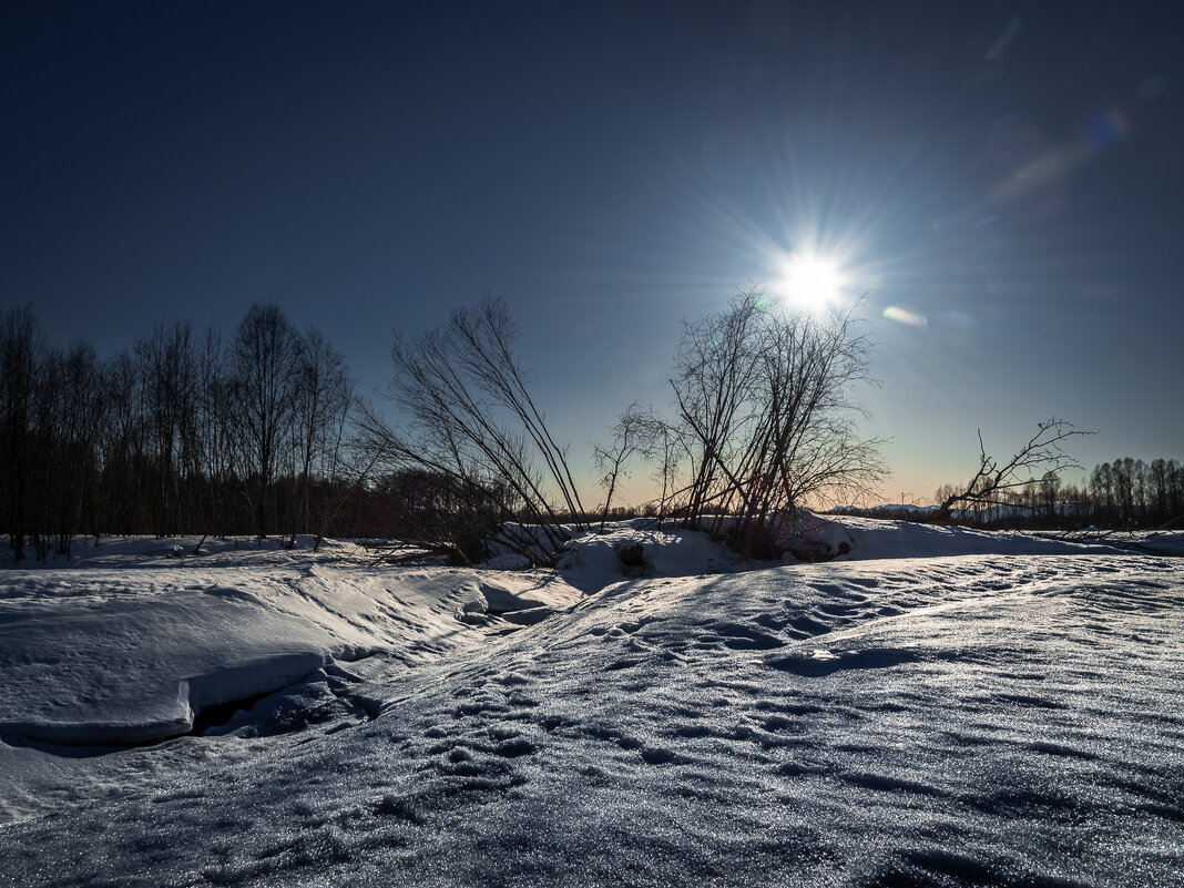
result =
M581 461L682 317L812 253L873 290L887 500L1050 414L1087 466L1184 457L1176 4L22 7L0 305L54 341L270 300L371 390L491 292Z

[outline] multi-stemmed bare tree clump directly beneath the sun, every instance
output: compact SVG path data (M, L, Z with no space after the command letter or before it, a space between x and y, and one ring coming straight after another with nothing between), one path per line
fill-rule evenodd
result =
M786 313L759 289L684 324L670 380L690 468L686 520L739 511L736 545L761 545L771 516L883 471L863 439L854 387L871 381L852 313Z

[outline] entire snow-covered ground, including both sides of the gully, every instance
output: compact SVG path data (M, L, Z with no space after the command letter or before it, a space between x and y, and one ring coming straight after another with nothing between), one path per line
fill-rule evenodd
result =
M0 572L0 884L1184 884L1184 562L844 523Z

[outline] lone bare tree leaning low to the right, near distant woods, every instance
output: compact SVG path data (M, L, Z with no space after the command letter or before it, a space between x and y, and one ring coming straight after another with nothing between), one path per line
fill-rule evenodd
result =
M971 509L1005 504L1005 494L1022 489L1049 472L1080 469L1064 443L1081 435L1094 432L1075 429L1070 423L1050 417L1037 424L1036 433L1006 462L987 455L983 444L983 432L978 432L978 470L970 482L946 493L933 513L934 521L948 521L954 507L960 513Z

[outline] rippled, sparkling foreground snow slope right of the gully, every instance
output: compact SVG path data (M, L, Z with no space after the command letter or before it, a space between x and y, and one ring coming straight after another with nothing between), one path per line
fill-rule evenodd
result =
M36 773L0 883L1182 883L1179 561L618 572L554 597L609 570L581 564L533 591L475 573L444 597L480 643L334 659L217 736L8 749ZM509 623L496 590L549 616ZM285 715L303 729L259 731Z

